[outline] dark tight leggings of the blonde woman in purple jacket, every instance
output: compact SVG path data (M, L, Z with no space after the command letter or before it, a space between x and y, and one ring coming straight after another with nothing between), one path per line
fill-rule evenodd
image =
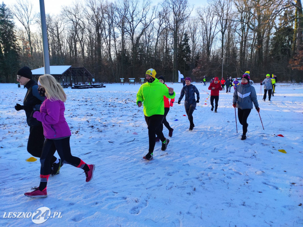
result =
M40 174L41 175L48 175L51 173L51 165L50 165L49 160L55 154L56 150L57 150L61 160L64 163L73 165L75 167L77 167L80 164L81 159L78 157L72 156L72 154L71 154L71 147L69 146L69 138L70 137L66 137L64 139L59 139L59 140L45 139L41 158L40 158L40 163L41 163Z

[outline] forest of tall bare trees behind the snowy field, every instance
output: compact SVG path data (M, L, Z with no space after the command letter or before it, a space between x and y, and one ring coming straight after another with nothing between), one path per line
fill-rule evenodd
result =
M37 3L35 3L37 4ZM33 3L0 5L0 82L15 82L19 67L43 67L40 15ZM14 21L18 21L17 23ZM239 77L251 72L302 82L301 0L85 0L46 15L50 65L84 66L99 82L145 75L167 81L178 70L203 76Z

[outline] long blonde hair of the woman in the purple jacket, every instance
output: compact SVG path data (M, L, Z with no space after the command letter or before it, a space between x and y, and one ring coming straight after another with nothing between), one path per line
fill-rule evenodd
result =
M61 100L62 102L66 101L66 94L60 83L57 82L55 77L49 74L44 74L39 77L41 86L45 88L45 96L51 100Z

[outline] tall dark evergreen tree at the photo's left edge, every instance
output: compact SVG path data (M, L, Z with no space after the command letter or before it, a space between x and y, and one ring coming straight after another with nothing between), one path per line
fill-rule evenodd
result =
M19 68L19 47L15 36L12 12L4 2L0 5L0 82L15 82Z

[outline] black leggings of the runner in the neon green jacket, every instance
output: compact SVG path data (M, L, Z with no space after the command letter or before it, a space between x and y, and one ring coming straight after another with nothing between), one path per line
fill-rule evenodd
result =
M165 137L162 133L163 125L162 125L162 120L163 120L163 115L161 114L154 114L151 115L150 117L145 116L145 121L147 124L147 129L148 129L148 141L149 141L149 148L148 148L148 153L152 153L155 148L156 144L156 136L157 135L162 142L165 141ZM162 129L161 126L162 125Z

